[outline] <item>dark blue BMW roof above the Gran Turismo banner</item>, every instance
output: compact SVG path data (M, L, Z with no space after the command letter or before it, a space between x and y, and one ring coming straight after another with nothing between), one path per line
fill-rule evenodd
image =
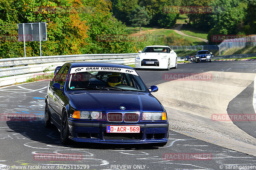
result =
M68 62L71 64L71 68L73 67L118 67L124 69L133 69L131 66L117 64L117 63L107 63L107 62ZM66 64L68 64L66 63Z

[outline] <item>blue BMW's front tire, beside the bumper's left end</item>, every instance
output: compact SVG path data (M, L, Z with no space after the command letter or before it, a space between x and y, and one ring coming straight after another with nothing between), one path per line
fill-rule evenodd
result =
M60 123L60 141L62 144L70 144L71 140L69 137L69 129L68 129L68 115L67 112L64 111L61 116Z

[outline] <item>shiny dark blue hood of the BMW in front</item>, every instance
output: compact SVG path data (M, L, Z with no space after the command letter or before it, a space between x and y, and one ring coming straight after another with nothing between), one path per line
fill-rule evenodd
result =
M163 112L159 101L145 92L88 90L68 94L81 111Z

